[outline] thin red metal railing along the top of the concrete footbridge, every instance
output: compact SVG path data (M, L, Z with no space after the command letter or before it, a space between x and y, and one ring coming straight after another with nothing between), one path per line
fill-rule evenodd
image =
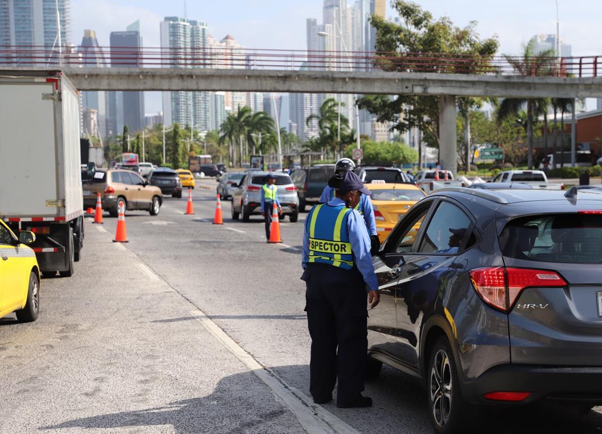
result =
M434 72L476 75L602 76L602 55L507 57L408 52L342 52L246 48L0 46L0 67L144 67L262 70Z

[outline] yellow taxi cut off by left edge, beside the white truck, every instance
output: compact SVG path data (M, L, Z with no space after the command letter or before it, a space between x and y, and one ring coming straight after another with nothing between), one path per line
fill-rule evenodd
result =
M33 232L14 235L0 220L0 318L16 312L22 323L35 321L40 311L40 268L28 247Z

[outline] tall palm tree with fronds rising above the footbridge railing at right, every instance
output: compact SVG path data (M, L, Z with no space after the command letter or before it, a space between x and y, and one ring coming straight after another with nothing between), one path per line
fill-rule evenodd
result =
M550 49L539 54L535 54L535 41L530 41L523 46L523 55L514 57L504 54L506 61L512 65L514 70L523 76L542 76L550 75L554 69L556 58L555 51ZM527 104L527 142L529 143L529 154L527 156L529 169L533 169L533 114L541 101L533 99L506 98L500 105L500 117L503 119L510 113L518 114L520 108Z

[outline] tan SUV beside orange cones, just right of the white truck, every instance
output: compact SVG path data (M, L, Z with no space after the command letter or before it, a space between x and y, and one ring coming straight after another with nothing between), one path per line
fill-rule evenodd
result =
M111 217L117 217L119 202L125 202L126 209L143 209L151 215L159 214L163 204L161 189L130 170L98 170L92 179L83 182L82 189L84 208L95 208L96 196L101 193L102 209Z

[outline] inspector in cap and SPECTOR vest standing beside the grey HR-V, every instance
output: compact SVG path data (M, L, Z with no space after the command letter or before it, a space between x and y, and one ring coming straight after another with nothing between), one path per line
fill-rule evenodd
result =
M337 406L368 407L362 396L367 359L366 296L379 303L370 255L370 236L355 207L368 190L351 171L330 178L335 198L320 203L305 220L302 265L311 335L310 391L316 404L332 400L338 377Z

